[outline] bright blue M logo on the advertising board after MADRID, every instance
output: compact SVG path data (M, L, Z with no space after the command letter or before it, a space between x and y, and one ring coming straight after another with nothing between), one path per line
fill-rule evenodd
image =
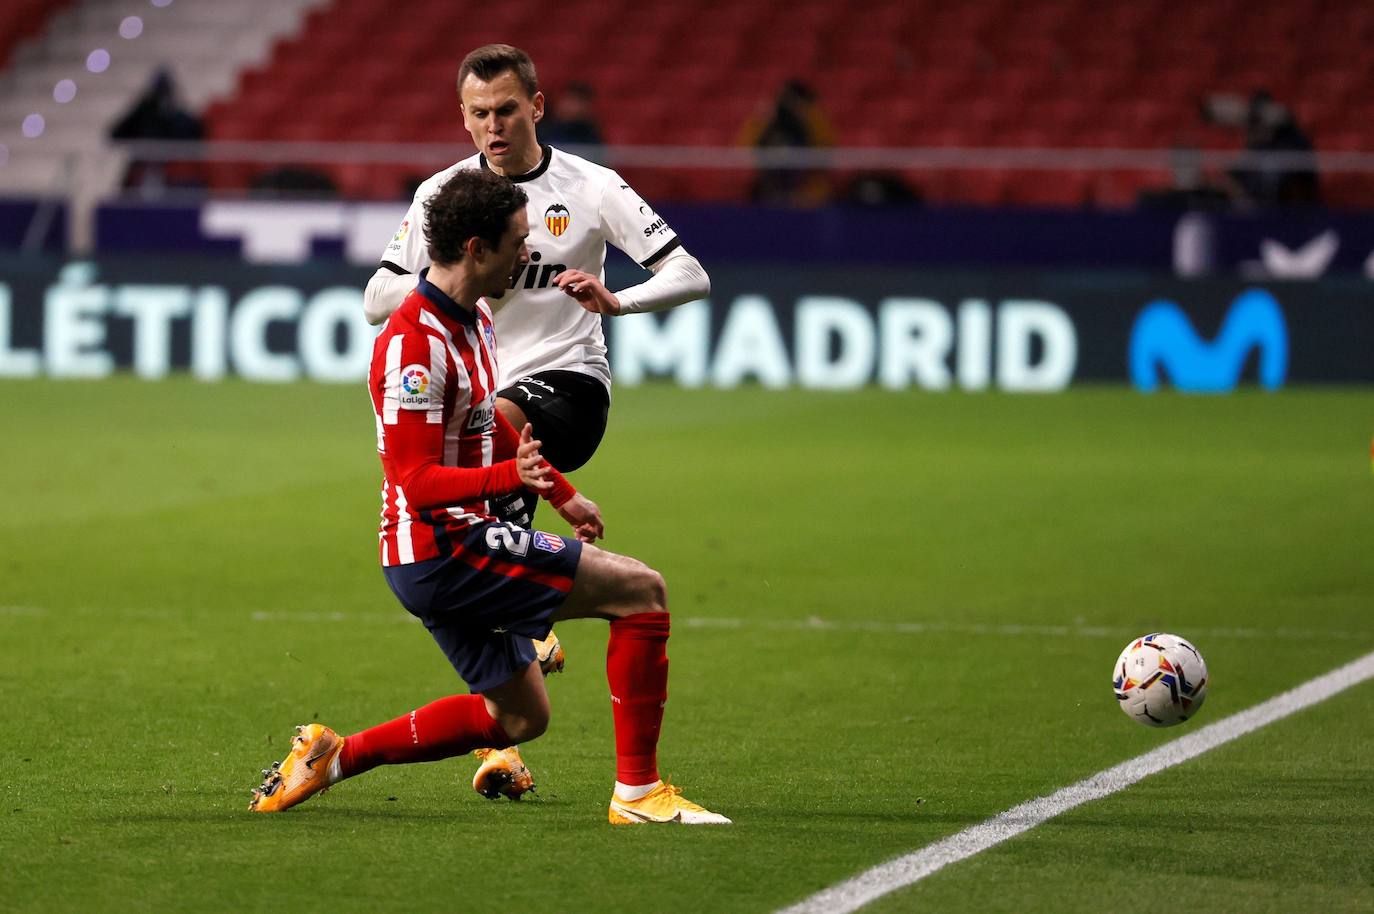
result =
M1140 390L1160 386L1160 375L1189 393L1223 393L1241 381L1252 349L1260 353L1260 385L1275 390L1287 374L1287 323L1267 291L1237 296L1216 339L1198 337L1183 309L1151 301L1131 330L1131 382Z

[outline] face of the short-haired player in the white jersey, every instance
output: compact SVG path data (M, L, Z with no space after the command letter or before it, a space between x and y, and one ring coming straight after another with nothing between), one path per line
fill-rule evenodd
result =
M473 144L486 157L497 175L523 175L534 170L543 150L534 136L534 124L544 117L544 93L530 98L514 70L484 82L469 73L459 89L463 126L473 135Z

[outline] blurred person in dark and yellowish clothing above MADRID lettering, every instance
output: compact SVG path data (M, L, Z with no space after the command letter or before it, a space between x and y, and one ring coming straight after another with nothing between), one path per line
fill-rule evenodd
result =
M745 124L741 143L760 150L818 148L831 146L834 132L811 87L789 80L772 106ZM750 188L750 199L765 205L816 206L829 198L827 176L812 169L760 166Z

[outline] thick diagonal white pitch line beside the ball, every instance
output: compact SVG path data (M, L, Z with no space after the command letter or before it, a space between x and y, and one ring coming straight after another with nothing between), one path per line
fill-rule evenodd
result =
M1068 812L1091 800L1117 793L1136 781L1164 771L1176 764L1210 752L1248 733L1259 730L1275 720L1282 720L1304 708L1326 701L1331 695L1374 678L1374 653L1333 669L1309 682L1290 689L1246 711L1194 730L1193 733L1167 742L1158 749L1146 752L1128 761L1099 771L1098 774L1057 790L1047 797L1037 797L971 827L952 834L943 841L912 851L888 863L866 870L859 876L807 898L797 904L785 907L778 914L848 914L868 902L882 898L907 885L938 873L951 863L958 863L988 848L1002 844L1022 832L1029 832L1054 816Z

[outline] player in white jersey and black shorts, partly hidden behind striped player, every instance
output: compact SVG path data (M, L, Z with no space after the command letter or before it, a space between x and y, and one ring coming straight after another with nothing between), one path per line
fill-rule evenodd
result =
M544 117L529 55L507 44L469 54L458 71L463 125L477 154L419 186L382 264L367 285L368 322L386 320L429 265L425 203L460 169L504 175L529 198L529 263L508 291L491 298L500 346L496 408L517 429L528 422L544 458L563 473L587 463L606 432L610 361L602 315L661 311L710 293L710 279L676 232L611 169L540 146ZM611 243L653 275L610 291L605 282ZM537 499L517 493L493 503L503 520L529 526ZM545 672L562 668L562 647L550 635L537 645ZM478 752L474 789L519 796L533 781L515 749Z

